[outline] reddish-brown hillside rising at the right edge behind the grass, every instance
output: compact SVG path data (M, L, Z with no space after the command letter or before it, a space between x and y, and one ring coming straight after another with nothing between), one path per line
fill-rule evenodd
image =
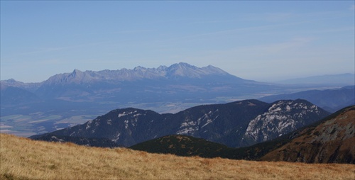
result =
M267 161L355 164L355 106L313 128L306 128L283 147L261 159Z

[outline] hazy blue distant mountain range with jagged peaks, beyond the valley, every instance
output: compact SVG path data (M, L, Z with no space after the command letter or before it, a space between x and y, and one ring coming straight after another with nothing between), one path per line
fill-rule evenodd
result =
M136 67L99 72L75 69L72 73L56 74L40 83L23 83L13 79L1 81L1 98L4 99L1 100L1 106L13 108L28 103L48 104L53 99L120 104L201 102L201 99L252 96L254 93L271 93L278 89L271 84L235 77L211 65L199 68L178 63L170 67Z

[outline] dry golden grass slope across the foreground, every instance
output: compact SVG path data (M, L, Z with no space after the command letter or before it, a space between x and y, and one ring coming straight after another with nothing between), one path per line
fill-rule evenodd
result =
M354 164L176 157L0 134L0 179L355 179Z

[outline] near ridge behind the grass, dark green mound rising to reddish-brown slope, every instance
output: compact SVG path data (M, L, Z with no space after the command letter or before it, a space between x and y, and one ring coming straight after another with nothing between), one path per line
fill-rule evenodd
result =
M130 148L179 156L355 164L354 119L355 106L347 107L275 140L237 149L185 135L167 135Z

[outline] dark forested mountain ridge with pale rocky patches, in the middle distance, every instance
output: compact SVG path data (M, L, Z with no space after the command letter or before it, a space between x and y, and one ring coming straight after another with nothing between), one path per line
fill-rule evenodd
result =
M229 147L245 147L273 140L327 115L327 111L300 99L274 103L236 101L195 106L175 114L124 108L82 125L31 138L50 141L65 140L60 137L105 138L129 147L164 135L190 135ZM87 145L91 145L89 142Z

